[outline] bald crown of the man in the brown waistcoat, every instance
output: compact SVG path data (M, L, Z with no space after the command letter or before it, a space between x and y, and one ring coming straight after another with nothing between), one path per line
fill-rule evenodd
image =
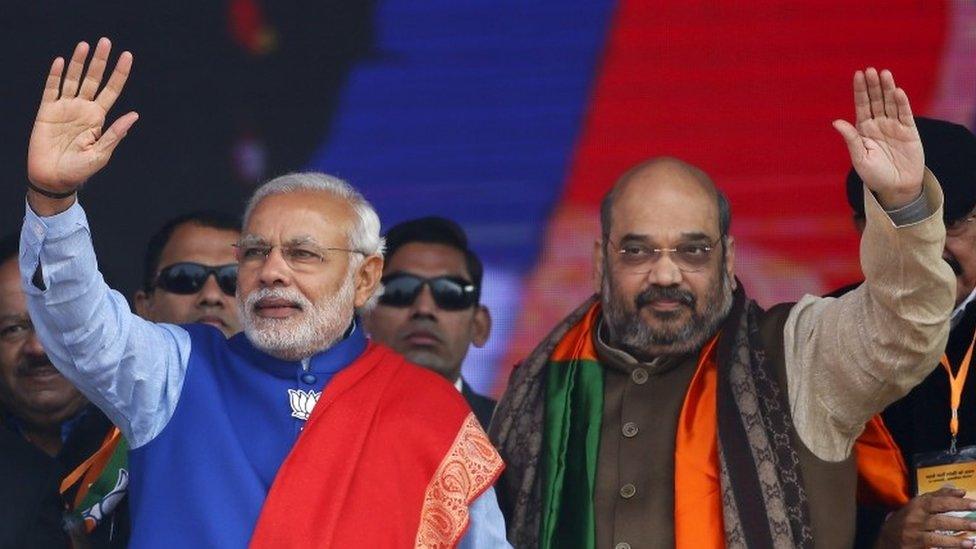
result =
M600 203L600 227L606 243L615 210L625 208L708 208L718 220L719 235L728 234L731 210L728 199L697 166L672 157L646 160L630 168L614 183Z

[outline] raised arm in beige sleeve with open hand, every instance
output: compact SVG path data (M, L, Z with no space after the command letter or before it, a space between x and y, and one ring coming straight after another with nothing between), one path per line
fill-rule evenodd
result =
M942 260L942 193L925 169L904 90L888 71L854 76L856 125L835 121L864 184L865 283L807 296L784 330L797 432L820 458L850 454L864 423L938 364L949 332L952 272Z

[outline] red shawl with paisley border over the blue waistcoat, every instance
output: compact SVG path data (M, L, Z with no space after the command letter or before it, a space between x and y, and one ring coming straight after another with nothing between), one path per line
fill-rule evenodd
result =
M453 547L503 468L457 390L370 343L326 386L251 547Z

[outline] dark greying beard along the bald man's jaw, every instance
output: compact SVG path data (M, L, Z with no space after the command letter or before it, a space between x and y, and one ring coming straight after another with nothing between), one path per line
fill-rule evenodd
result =
M604 264L603 273L601 301L608 343L641 361L650 361L658 356L697 352L718 332L732 310L732 281L725 272L724 258L718 284L704 296L704 311L699 313L693 306L691 318L687 322L658 329L644 323L636 303L625 303L614 292L609 265Z

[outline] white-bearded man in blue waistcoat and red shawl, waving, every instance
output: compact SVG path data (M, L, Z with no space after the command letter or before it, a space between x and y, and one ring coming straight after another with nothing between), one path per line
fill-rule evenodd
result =
M347 183L291 174L255 191L237 244L243 334L143 320L104 283L76 192L137 118L102 133L132 65L123 53L99 92L110 47L87 72L83 42L51 67L20 271L52 362L132 448L130 547L507 546L502 463L477 419L359 326L383 243Z

